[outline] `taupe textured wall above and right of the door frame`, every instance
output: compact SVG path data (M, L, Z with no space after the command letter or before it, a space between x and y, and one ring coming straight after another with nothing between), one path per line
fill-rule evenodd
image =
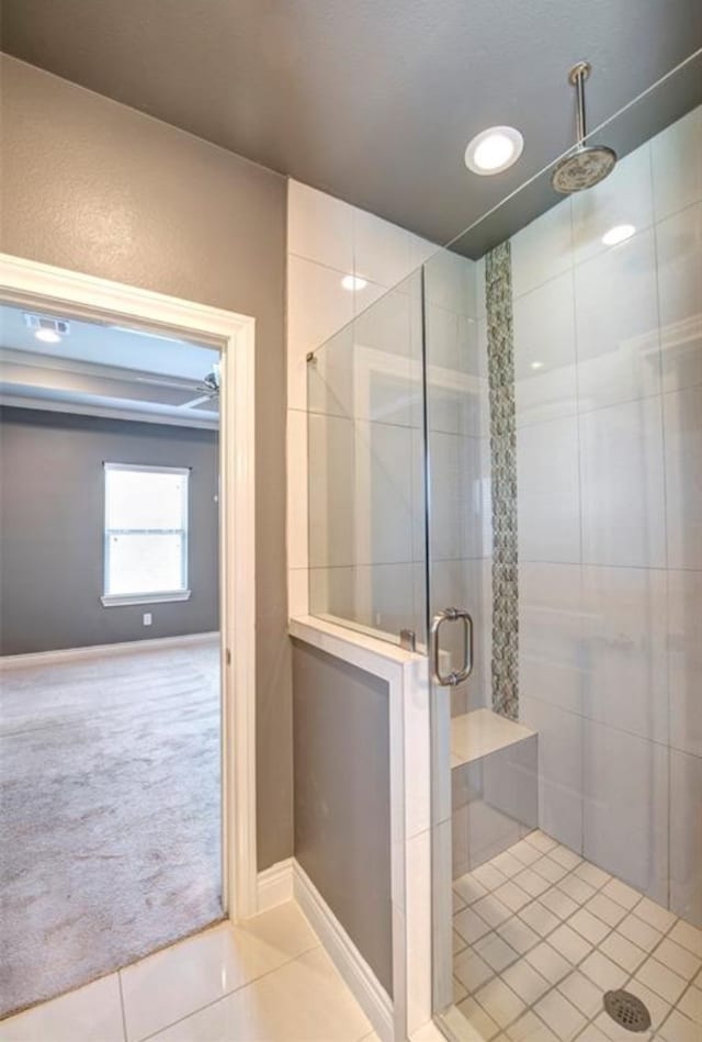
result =
M263 869L293 849L285 179L14 58L2 57L1 76L2 250L256 317L257 783Z

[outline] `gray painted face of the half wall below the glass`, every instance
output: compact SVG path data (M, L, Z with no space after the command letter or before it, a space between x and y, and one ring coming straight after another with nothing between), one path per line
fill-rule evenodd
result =
M388 686L293 643L295 856L392 996Z

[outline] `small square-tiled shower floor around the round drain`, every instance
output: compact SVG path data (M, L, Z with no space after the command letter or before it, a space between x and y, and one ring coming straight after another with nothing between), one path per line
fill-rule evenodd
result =
M455 1002L484 1039L702 1042L702 930L544 832L453 888ZM603 1011L620 987L646 1004L650 1032Z

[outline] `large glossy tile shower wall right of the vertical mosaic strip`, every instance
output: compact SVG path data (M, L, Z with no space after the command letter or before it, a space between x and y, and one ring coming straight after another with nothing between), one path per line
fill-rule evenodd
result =
M512 262L541 825L700 923L702 109L516 235Z

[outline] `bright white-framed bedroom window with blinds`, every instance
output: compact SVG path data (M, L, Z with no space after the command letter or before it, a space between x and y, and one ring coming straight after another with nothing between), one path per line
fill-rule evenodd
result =
M190 471L129 463L104 468L102 603L186 601Z

